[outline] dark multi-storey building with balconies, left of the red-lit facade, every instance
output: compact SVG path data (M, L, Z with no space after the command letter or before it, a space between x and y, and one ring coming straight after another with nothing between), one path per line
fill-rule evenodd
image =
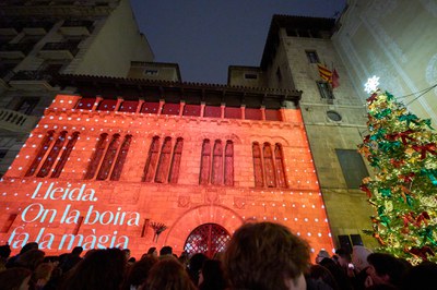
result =
M127 77L153 61L129 0L0 3L0 174L59 94L58 73Z

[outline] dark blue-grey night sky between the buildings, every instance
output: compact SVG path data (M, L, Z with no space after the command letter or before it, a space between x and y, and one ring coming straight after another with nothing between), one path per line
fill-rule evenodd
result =
M273 14L336 17L346 0L131 0L157 62L184 82L226 84L228 65L259 67Z

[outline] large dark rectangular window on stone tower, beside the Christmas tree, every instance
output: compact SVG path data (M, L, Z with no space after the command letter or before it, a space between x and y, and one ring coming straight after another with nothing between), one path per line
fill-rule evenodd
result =
M352 149L335 149L340 167L349 189L359 189L362 180L368 177L362 156Z

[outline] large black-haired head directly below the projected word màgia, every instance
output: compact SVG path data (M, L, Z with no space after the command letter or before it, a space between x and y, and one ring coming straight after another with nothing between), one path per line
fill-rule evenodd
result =
M126 254L119 249L90 251L67 275L61 289L118 290L123 280L126 264Z

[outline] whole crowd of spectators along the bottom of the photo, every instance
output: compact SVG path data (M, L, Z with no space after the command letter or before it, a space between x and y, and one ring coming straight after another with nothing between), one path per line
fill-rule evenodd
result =
M273 222L246 223L226 251L177 256L170 246L151 247L138 261L128 249L90 250L46 256L28 243L11 256L0 246L0 290L362 290L435 289L437 265L412 266L389 254L354 246L310 261L306 241Z

